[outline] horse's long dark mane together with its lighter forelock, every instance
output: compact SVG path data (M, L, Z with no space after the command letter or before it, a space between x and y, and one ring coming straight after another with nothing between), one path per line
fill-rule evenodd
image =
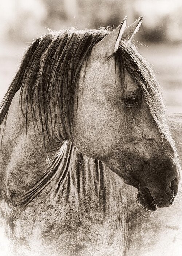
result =
M37 128L37 120L40 120L44 140L46 137L50 139L60 126L63 128L62 137L72 138L73 105L81 67L88 60L93 46L108 33L106 29L77 31L70 28L52 31L36 39L25 53L19 71L3 99L0 124L8 113L15 93L21 88L21 110L26 120L28 113L31 113ZM121 88L125 86L127 71L140 87L162 138L169 141L176 153L165 119L160 87L150 66L135 46L124 40L120 42L114 58L119 69Z

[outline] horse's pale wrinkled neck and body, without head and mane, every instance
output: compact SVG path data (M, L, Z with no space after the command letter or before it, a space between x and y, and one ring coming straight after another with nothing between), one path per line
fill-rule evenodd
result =
M26 136L18 102L16 93L0 151L4 255L179 255L180 197L151 214L136 202L134 187L72 143L56 135L46 152L31 122ZM182 143L182 117L170 117L170 125L174 140ZM2 133L3 125L0 139ZM181 144L177 147L181 153Z

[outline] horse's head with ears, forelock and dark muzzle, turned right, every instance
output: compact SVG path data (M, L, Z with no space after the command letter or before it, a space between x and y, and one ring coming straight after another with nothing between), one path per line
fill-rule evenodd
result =
M154 75L131 43L142 18L97 42L80 72L73 141L126 184L147 210L173 204L181 169Z

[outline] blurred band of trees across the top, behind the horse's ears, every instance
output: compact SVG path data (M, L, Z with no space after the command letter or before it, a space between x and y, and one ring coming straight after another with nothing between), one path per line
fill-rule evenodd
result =
M111 27L126 15L128 24L145 15L139 35L147 41L182 41L181 0L6 0L1 2L0 37L32 41L47 28Z

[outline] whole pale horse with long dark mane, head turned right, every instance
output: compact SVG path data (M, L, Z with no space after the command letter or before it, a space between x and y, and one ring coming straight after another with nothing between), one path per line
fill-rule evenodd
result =
M142 18L29 46L0 113L1 255L179 255L182 114L132 43Z

